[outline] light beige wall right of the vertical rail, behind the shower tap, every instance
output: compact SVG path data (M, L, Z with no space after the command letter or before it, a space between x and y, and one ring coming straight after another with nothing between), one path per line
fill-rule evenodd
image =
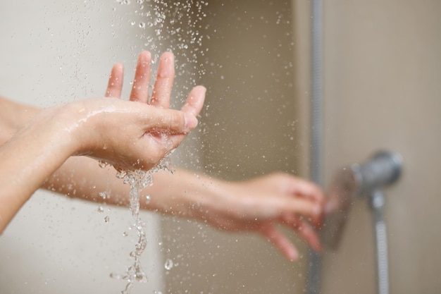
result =
M378 149L404 157L385 191L391 293L441 291L440 11L440 1L324 1L325 178ZM375 293L365 201L324 255L322 293Z

